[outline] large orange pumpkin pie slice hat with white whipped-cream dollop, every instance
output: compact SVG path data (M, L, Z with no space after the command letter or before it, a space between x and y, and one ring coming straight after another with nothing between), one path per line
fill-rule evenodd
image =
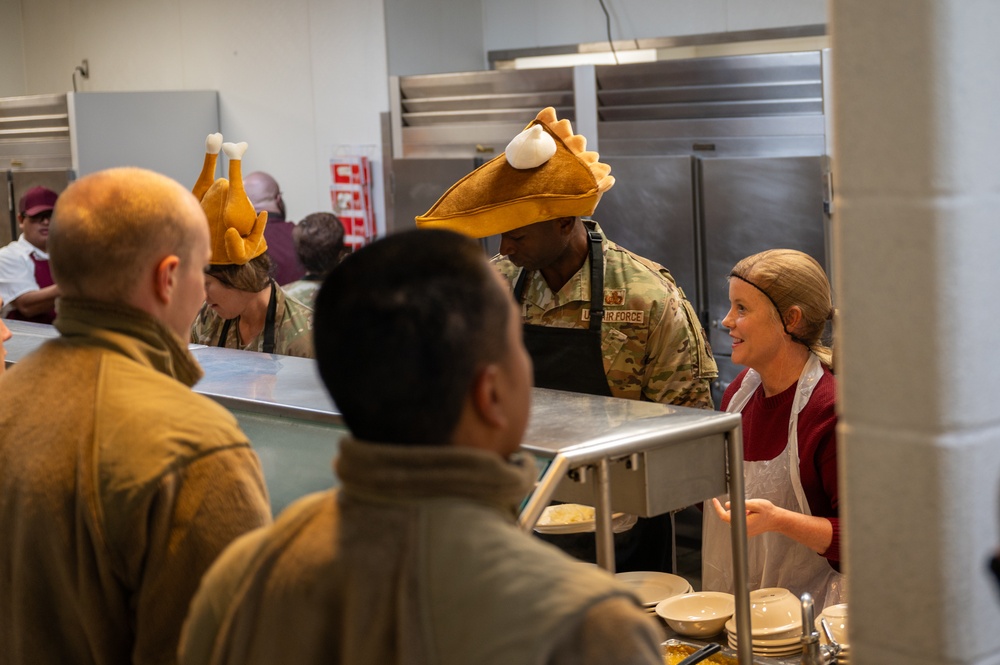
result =
M506 233L558 217L594 212L615 179L611 167L587 151L587 139L569 120L543 109L504 153L451 186L416 218L426 229L449 229L474 238Z

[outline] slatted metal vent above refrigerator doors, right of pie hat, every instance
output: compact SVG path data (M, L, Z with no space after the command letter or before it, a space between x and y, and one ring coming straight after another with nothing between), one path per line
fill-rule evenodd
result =
M819 51L596 68L601 122L822 115Z

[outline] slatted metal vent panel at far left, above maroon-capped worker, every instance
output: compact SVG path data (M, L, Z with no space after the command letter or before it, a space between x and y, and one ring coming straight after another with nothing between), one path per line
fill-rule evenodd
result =
M66 95L0 101L0 169L68 169L71 165Z

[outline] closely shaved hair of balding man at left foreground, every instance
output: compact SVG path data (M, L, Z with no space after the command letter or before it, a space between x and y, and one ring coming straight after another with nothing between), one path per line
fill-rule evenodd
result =
M128 301L152 262L188 258L194 224L207 224L201 206L167 176L133 167L84 176L52 215L53 277L65 295Z

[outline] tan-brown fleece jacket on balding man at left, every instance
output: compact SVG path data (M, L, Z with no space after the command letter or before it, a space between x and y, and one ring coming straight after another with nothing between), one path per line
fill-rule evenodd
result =
M173 663L202 573L271 521L260 463L160 322L58 311L0 377L0 663Z

